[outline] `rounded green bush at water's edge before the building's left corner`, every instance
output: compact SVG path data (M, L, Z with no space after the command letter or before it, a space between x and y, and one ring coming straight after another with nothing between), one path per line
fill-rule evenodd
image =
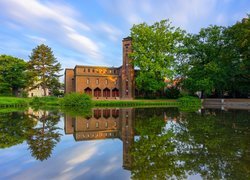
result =
M77 107L91 107L92 100L87 94L82 93L70 93L66 94L61 100L62 106L77 106Z

